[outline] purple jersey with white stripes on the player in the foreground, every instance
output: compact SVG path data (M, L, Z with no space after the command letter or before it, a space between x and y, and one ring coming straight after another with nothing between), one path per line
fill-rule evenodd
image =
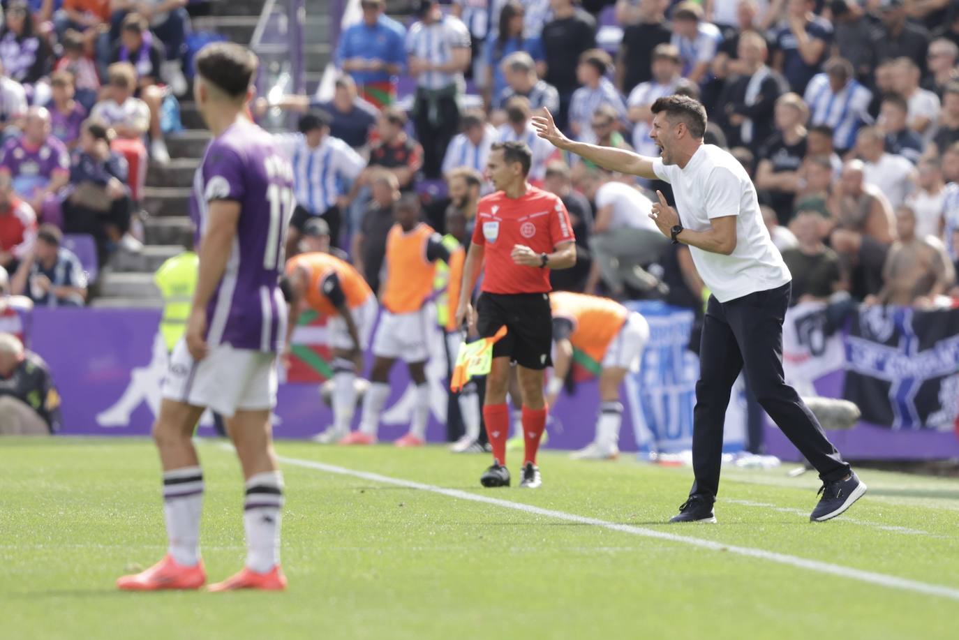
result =
M284 340L287 305L279 288L292 214L292 167L273 136L243 121L206 148L194 178L198 240L209 202L238 201L240 220L226 271L207 308L207 342L275 352Z

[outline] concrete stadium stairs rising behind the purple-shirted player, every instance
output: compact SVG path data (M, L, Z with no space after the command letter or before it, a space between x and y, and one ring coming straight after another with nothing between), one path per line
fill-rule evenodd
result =
M306 0L304 25L305 81L316 90L330 54L330 0ZM195 31L222 34L234 42L249 43L263 9L263 0L217 0L210 15L193 18ZM192 232L189 202L194 173L210 133L203 126L191 95L180 101L184 130L167 137L171 162L151 163L142 201L145 243L138 254L114 257L101 273L98 296L90 306L100 308L159 308L162 299L153 285L153 272L183 249Z

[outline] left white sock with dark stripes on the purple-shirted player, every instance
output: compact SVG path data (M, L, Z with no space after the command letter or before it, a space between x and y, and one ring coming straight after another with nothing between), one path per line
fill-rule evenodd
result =
M167 521L167 548L177 564L199 562L199 514L203 507L203 471L184 466L163 472L163 515Z

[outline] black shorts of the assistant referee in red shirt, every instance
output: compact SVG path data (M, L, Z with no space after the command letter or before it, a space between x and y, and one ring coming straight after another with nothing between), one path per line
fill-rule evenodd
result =
M505 325L507 332L493 345L493 357L508 357L520 367L552 365L552 312L547 294L487 294L477 302L477 329L491 338Z

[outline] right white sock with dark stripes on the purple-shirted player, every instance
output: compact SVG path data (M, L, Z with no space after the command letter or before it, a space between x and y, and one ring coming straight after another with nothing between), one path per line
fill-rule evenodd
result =
M259 574L280 562L280 517L283 510L283 474L258 473L246 481L243 524L246 530L246 567Z

